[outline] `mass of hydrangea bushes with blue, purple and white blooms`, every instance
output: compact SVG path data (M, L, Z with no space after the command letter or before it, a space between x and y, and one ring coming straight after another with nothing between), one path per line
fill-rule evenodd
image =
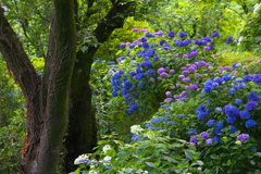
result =
M78 173L260 173L261 61L219 66L219 33L186 37L147 33L120 46L111 104L132 116L154 95L162 102L145 126L130 127L130 144L109 136L76 160Z

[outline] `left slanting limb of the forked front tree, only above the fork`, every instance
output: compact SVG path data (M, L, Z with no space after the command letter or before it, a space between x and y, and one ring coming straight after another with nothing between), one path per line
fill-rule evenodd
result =
M37 75L35 67L3 12L4 10L0 8L0 52L8 63L14 79L28 99L38 90L40 77Z

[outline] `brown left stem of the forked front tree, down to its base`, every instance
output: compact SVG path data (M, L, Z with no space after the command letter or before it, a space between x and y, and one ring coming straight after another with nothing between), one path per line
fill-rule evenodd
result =
M35 163L40 139L40 77L37 76L20 39L4 17L2 8L0 12L0 52L26 99L26 137L25 146L22 149L22 166L25 170Z

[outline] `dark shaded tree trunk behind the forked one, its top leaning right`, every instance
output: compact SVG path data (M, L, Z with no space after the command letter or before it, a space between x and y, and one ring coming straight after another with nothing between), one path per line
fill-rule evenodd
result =
M121 14L121 15L120 15ZM124 20L134 14L134 3L113 3L113 7L101 20L94 35L103 44L115 28L123 26ZM99 47L88 46L86 52L78 51L73 72L70 95L69 129L65 139L67 154L65 157L66 172L75 171L74 160L83 154L92 152L97 146L97 127L95 113L91 112L91 89L89 86L92 59Z

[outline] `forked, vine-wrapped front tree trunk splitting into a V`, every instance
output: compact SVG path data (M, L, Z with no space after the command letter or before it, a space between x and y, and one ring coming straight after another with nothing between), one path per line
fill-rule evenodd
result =
M45 78L36 74L21 41L0 13L0 51L26 99L22 173L55 174L67 123L67 100L76 57L73 0L54 0L54 21Z

